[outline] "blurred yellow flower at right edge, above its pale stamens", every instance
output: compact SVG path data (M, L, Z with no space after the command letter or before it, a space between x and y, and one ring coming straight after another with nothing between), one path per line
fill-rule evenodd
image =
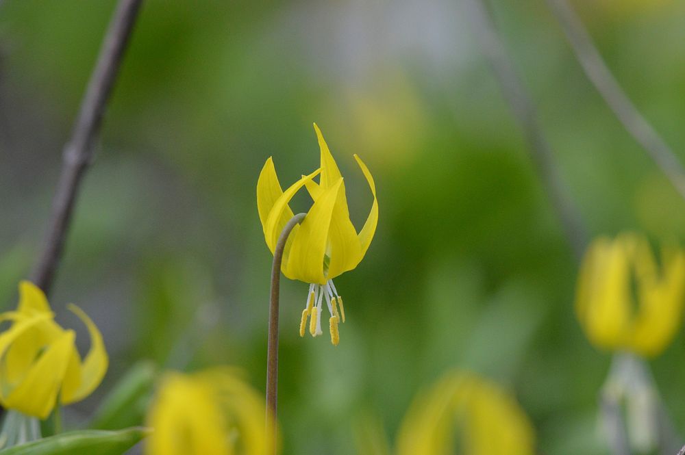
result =
M657 263L645 237L600 237L586 252L576 312L592 343L608 350L656 356L680 327L685 253L662 248Z

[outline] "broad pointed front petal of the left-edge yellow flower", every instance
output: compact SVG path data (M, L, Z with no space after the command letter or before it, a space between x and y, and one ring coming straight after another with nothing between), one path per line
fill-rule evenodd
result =
M74 337L73 330L66 330L48 346L3 404L26 415L46 419L55 406L57 393L62 386Z

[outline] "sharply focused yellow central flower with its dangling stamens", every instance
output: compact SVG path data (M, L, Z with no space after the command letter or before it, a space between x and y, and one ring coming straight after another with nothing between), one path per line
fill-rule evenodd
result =
M305 334L308 317L311 317L309 330L312 336L323 333L321 313L325 298L330 314L331 341L337 345L340 340L338 324L341 320L345 322L345 309L333 278L356 268L366 254L378 222L378 203L371 172L354 155L373 194L371 212L362 230L357 233L349 219L343 177L316 123L314 129L321 148L321 167L303 176L284 192L270 157L257 182L257 208L266 244L273 253L281 231L293 216L288 202L302 187L307 188L314 203L303 222L295 226L288 237L281 270L292 280L310 283L306 307L302 312L300 336ZM321 174L321 178L316 183L313 179L318 174Z

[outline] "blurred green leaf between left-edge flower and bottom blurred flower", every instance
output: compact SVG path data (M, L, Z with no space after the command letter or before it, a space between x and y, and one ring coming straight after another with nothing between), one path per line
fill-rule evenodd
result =
M142 424L157 373L151 361L136 363L108 393L88 427L114 430Z

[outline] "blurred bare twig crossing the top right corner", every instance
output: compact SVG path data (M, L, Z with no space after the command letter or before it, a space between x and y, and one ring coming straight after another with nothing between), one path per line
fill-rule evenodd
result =
M547 0L547 3L564 29L575 57L601 97L619 118L626 131L647 151L673 183L677 192L685 198L685 169L677 155L621 89L569 2Z

